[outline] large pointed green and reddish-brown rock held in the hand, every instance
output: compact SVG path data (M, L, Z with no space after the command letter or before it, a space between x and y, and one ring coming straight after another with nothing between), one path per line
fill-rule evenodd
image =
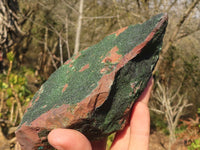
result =
M35 94L16 136L24 150L52 147L48 133L72 128L96 140L123 129L158 61L167 27L159 14L80 51Z

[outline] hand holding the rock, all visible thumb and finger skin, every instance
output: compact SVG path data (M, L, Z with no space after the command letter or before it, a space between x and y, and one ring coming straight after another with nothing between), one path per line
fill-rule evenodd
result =
M111 150L148 150L150 134L148 101L152 87L153 78L135 103L129 124L116 134ZM91 143L82 133L73 129L54 129L49 133L48 141L58 150L106 149L106 138Z

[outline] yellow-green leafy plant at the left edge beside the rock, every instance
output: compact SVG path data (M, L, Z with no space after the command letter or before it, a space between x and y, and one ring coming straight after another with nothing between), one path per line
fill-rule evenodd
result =
M27 80L23 71L13 71L8 75L1 74L0 95L3 105L0 118L9 120L12 125L17 125L21 118L16 114L24 111L33 94L27 89ZM19 108L21 107L21 108Z

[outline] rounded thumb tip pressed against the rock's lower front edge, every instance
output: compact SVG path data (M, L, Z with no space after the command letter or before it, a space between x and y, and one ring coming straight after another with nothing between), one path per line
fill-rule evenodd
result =
M58 150L92 150L88 139L72 129L54 129L49 133L48 141Z

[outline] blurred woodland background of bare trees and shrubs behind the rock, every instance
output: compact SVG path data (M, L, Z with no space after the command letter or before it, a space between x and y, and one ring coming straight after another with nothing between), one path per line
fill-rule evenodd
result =
M150 150L200 149L199 2L0 0L0 149L19 149L14 131L28 102L64 61L161 12L169 24L149 104Z

